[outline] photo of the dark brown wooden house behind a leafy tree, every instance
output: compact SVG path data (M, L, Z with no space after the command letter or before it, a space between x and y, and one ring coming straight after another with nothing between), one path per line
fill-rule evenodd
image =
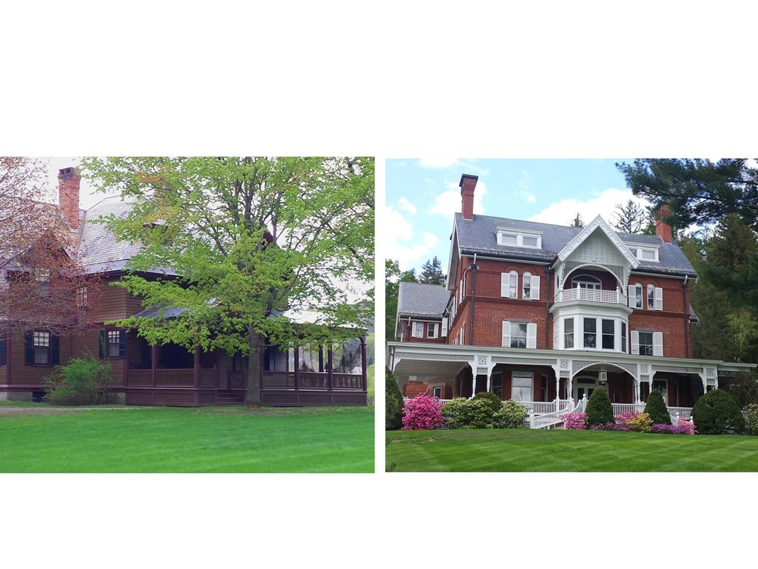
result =
M0 473L374 472L374 162L0 157Z

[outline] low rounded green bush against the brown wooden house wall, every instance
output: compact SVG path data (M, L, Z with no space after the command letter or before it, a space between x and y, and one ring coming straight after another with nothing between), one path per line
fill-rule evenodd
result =
M98 405L108 403L113 384L111 364L96 357L72 358L45 378L45 400L55 405Z

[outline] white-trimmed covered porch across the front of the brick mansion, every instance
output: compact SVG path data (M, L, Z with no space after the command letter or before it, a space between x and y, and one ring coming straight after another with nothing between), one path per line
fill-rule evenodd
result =
M573 410L596 389L609 395L615 414L644 410L650 391L661 391L672 418L690 417L719 373L750 364L630 354L390 343L387 363L399 382L446 382L453 397L492 391L514 399L534 417L553 419ZM429 394L433 395L433 394ZM446 400L446 398L443 398ZM552 416L552 417L550 417ZM540 423L538 420L537 423ZM547 425L538 425L547 426Z

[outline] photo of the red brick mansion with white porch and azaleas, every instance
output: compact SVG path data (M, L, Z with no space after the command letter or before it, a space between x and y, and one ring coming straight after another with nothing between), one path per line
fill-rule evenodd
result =
M388 159L387 471L758 471L756 188L749 159Z

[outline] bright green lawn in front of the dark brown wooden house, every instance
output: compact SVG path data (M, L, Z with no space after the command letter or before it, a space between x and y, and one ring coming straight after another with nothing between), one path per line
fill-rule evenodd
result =
M3 473L374 471L374 407L2 407Z

